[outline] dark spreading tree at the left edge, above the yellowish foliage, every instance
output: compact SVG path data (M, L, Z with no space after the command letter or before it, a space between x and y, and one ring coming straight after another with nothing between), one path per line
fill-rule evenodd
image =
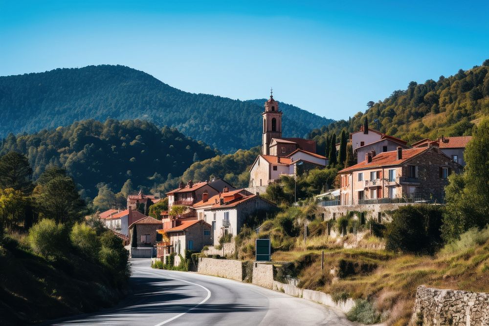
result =
M32 169L27 157L18 152L8 152L0 157L0 188L13 188L23 194L32 191Z

